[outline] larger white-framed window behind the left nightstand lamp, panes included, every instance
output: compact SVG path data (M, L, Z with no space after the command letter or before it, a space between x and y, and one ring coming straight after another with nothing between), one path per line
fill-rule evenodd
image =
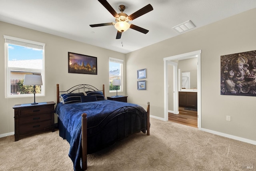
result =
M4 36L6 48L6 97L28 97L32 85L23 85L25 74L42 76L43 85L36 86L36 93L44 95L44 46L30 40Z

